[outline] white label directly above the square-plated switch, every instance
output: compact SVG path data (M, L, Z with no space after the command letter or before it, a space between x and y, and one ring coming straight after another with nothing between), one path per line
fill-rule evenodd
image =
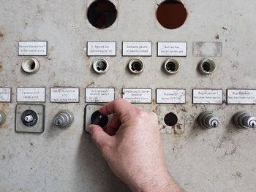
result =
M45 88L17 88L18 102L45 102Z

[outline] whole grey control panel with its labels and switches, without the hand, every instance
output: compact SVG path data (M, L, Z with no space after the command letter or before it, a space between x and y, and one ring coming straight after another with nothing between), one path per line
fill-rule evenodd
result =
M255 8L1 2L0 191L129 191L88 134L117 98L157 114L184 191L255 191Z

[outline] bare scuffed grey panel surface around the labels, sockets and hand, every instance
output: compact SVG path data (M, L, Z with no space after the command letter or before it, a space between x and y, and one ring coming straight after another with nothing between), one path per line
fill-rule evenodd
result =
M7 121L0 128L0 191L129 191L110 172L108 164L88 135L83 133L84 88L184 88L187 103L140 104L159 115L159 128L171 174L185 191L246 191L256 188L256 130L238 130L230 122L235 112L256 115L252 105L193 105L192 88L256 88L255 9L256 1L188 1L184 26L170 31L156 19L160 1L115 1L116 23L99 30L86 19L91 1L1 1L0 3L0 85L12 87L12 103L0 104ZM36 57L40 69L27 75L20 69L18 41L47 40L48 55ZM104 75L92 72L96 57L84 51L88 41L116 41L116 57L105 57L110 70ZM122 41L153 42L152 57L141 58L146 68L138 76L127 72L131 58L121 56ZM157 58L157 42L187 42L186 58L178 74L162 72L166 58ZM222 56L213 58L217 69L203 77L196 68L193 42L222 42ZM203 52L200 52L203 53ZM140 57L139 57L140 58ZM46 87L45 131L42 134L15 133L17 87ZM49 103L49 88L80 88L79 104ZM225 100L225 93L224 93ZM53 128L59 110L69 110L75 122L67 129ZM196 118L203 110L214 111L221 126L202 130ZM178 125L166 127L167 112L178 115Z

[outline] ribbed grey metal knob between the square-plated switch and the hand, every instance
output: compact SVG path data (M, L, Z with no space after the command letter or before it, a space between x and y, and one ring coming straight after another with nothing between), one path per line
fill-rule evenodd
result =
M69 127L73 121L73 115L69 111L60 111L53 118L53 124L60 128Z

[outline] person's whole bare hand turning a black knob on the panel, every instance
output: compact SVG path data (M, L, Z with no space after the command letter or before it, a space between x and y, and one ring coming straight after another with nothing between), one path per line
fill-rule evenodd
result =
M89 126L91 139L132 191L181 191L167 171L154 112L140 110L124 99L106 104L99 112L114 116L105 131Z

